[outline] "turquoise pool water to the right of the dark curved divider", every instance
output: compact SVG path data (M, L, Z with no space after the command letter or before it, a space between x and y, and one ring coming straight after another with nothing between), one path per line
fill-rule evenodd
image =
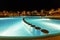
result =
M27 18L26 20L29 23L35 25L36 27L40 27L41 29L48 30L49 34L60 33L60 20L56 20L56 19L29 19L29 18ZM44 34L41 33L40 35L44 35Z

